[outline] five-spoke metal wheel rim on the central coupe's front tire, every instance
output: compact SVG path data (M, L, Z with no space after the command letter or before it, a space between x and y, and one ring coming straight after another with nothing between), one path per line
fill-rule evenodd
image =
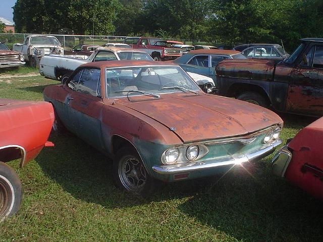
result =
M128 157L119 163L119 177L122 185L132 192L140 192L146 184L146 171L135 157Z

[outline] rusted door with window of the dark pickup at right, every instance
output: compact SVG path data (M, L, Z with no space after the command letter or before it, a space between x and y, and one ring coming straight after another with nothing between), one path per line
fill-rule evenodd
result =
M323 44L312 44L291 72L286 109L306 115L323 115Z

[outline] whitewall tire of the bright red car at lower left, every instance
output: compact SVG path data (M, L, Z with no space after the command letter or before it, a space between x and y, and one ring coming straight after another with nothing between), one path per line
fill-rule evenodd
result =
M22 184L18 174L0 162L0 222L17 213L21 200Z

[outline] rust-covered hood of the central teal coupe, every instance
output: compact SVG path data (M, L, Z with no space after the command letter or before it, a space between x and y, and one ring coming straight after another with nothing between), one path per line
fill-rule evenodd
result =
M160 99L116 101L163 124L185 143L247 135L283 120L271 110L244 101L216 95L164 94Z

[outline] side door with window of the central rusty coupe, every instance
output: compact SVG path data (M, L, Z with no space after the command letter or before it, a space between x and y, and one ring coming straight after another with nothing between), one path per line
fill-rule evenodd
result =
M84 68L77 89L73 90L71 97L70 116L76 120L76 135L102 150L104 145L100 116L104 104L101 97L100 69Z

